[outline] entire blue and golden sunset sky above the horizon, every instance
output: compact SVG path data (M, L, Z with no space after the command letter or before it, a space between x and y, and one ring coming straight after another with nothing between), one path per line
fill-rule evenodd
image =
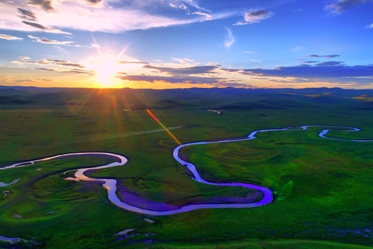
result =
M0 85L373 88L373 0L0 0Z

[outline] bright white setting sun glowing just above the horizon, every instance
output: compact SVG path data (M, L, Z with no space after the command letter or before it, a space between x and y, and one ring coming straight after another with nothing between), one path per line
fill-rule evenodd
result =
M113 55L88 57L87 64L95 74L95 86L99 88L122 87L120 80L115 77L122 68L117 57Z

